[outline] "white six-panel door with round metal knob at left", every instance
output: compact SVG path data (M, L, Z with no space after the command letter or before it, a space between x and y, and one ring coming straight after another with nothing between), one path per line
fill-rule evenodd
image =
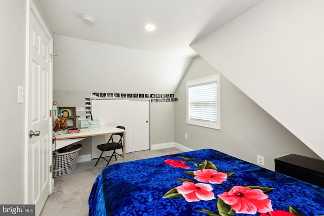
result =
M51 182L52 45L32 11L29 19L28 132L40 134L28 140L28 204L35 204L38 215L50 193Z

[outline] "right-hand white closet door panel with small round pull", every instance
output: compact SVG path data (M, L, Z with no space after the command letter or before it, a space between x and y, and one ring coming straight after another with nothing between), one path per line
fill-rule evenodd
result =
M130 152L147 150L150 148L149 140L149 101L130 102ZM126 138L127 139L127 138Z

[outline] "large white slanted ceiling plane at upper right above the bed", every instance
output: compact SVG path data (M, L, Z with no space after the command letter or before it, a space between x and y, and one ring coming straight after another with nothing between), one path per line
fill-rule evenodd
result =
M191 45L324 158L324 1L266 0Z

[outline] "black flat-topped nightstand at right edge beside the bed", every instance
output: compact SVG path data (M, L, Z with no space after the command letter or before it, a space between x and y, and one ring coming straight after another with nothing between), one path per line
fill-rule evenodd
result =
M290 154L275 158L274 169L281 174L324 188L324 160Z

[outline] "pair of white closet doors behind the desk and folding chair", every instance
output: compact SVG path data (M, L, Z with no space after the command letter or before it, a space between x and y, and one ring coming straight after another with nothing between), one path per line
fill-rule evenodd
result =
M101 125L126 127L126 153L149 149L149 101L93 100L92 114ZM92 158L99 157L102 139L93 137Z

